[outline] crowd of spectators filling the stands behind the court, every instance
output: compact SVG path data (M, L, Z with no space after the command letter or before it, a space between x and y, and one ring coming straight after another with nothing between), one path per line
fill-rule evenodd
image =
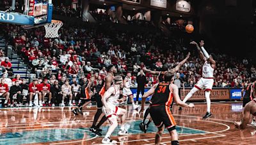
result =
M13 96L19 96L19 105L22 104L19 94L29 96L26 97L28 106L33 105L35 94L39 100L38 106L76 105L81 102L77 94L83 95L81 90L90 81L93 82L91 95L97 95L111 65L115 65L118 74L122 76L132 72L131 87L137 87L136 76L143 67L155 71L172 69L188 52L191 52L191 57L175 77L182 80L185 87L193 87L202 76L203 62L194 46L185 47L179 40L163 36L161 32L134 33L116 31L114 27L102 25L92 24L85 27L64 24L59 31L60 37L49 39L44 38L44 27L29 30L10 24L1 24L1 27L6 41L13 45L15 51L29 65L31 73L36 74L29 86L22 86L28 82L17 75L6 88L4 84L7 84L8 77L3 71L0 93L9 92L12 86L20 86L19 89L15 88L16 93L13 94L13 91L6 94L10 96L12 103ZM4 53L1 56L4 57ZM246 59L239 60L225 54L215 54L214 59L214 87L242 88L251 77L256 76L255 67ZM1 62L1 66L6 70L12 68L8 62ZM157 75L143 72L144 74L147 79L145 87L159 82ZM45 96L48 96L48 102L45 101Z

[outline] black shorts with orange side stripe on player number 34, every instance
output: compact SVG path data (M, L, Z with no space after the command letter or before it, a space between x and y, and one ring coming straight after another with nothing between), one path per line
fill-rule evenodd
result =
M169 131L175 129L176 122L172 116L169 106L151 106L150 116L157 128L168 128Z

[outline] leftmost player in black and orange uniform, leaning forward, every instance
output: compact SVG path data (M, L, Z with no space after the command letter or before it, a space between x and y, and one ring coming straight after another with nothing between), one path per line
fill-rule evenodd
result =
M83 86L83 88L81 89L82 91L82 97L84 98L83 100L81 100L81 103L78 105L78 107L76 107L76 109L72 110L72 113L78 115L78 113L83 114L82 112L82 108L85 106L88 106L88 104L90 104L92 102L91 100L91 86L92 83L94 82L94 77L92 77L88 83L87 86ZM86 85L86 83L84 83L84 85ZM77 113L78 112L78 113Z

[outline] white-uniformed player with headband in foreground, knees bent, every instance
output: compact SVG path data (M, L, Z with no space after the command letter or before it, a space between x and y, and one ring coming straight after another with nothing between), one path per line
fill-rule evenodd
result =
M115 76L114 81L114 85L110 86L102 97L102 111L111 124L108 128L106 136L104 137L104 139L102 139L103 144L117 143L116 141L110 139L110 135L118 126L117 116L121 116L121 128L118 132L118 135L129 135L129 132L125 130L124 126L127 111L115 105L120 101L120 88L122 88L123 86L122 76Z

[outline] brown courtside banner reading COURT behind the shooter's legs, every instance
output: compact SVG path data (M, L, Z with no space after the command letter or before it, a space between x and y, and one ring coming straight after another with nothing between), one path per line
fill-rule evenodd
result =
M185 89L183 92L180 89L180 99L183 100L191 89ZM214 89L211 90L211 100L229 100L230 98L229 89ZM189 100L205 100L205 91L200 90L195 92Z

